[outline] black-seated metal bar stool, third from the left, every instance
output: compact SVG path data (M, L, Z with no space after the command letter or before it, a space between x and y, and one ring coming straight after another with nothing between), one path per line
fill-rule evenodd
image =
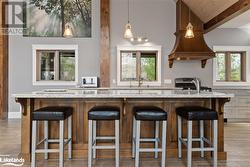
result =
M155 121L155 137L140 138L141 121ZM161 148L158 148L159 138L159 121L162 121L162 140ZM158 107L142 106L134 107L133 118L133 140L132 140L132 157L135 157L135 167L140 164L140 152L154 152L155 158L158 157L158 152L162 152L161 166L165 167L166 163L166 133L167 133L167 112ZM140 142L154 142L154 148L140 148Z

